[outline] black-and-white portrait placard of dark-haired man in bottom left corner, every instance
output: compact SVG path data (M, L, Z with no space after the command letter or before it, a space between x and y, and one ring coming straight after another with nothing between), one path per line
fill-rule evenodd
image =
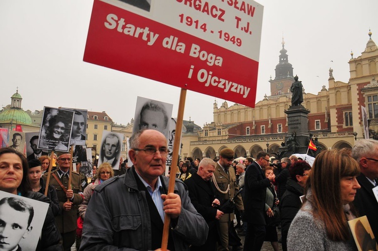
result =
M35 250L47 210L48 203L0 191L2 250Z

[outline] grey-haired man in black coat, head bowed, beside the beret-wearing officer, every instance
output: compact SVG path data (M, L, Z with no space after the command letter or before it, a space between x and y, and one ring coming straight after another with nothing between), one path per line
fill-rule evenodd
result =
M215 251L217 250L218 231L216 222L223 212L216 209L220 202L215 198L216 189L210 180L215 171L216 163L209 158L204 158L199 165L198 171L191 178L185 179L189 198L209 226L209 234L206 243L202 246L192 245L191 250Z

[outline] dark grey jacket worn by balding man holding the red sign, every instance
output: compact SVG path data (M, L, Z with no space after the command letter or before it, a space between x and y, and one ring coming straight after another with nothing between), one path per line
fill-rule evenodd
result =
M123 175L98 185L88 205L80 250L150 250L151 221L144 191L138 190L134 166ZM167 177L163 185L168 190ZM174 193L181 198L181 213L171 233L176 250L202 245L208 234L205 219L192 205L186 186L178 179ZM118 247L123 247L118 249Z

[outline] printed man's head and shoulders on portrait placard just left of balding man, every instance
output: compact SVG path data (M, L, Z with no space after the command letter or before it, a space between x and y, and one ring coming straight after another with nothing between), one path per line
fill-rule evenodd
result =
M108 162L113 169L119 166L120 143L115 134L108 134L102 143L100 160L101 164Z

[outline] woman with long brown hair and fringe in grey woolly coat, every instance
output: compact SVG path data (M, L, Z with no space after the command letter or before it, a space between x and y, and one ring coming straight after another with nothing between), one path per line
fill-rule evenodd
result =
M348 220L360 189L358 163L337 149L321 152L306 182L305 200L292 221L288 250L357 250Z

